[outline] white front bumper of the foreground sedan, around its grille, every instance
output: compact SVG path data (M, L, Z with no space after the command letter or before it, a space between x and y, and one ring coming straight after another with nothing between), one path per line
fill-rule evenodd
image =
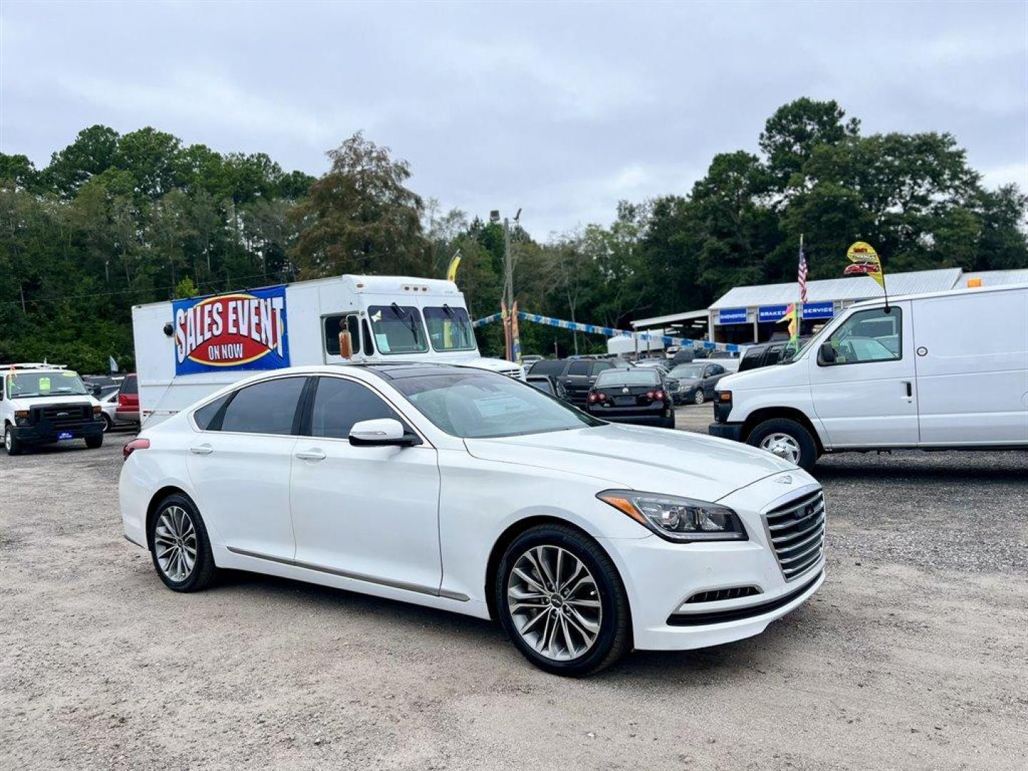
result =
M799 477L796 472L790 476ZM823 555L786 581L768 543L764 512L783 499L817 489L813 479L800 478L796 489L786 488L783 494L783 485L774 481L781 477L773 475L719 501L742 519L747 541L676 544L658 536L602 540L628 591L635 648L689 650L749 637L817 591L824 581ZM755 587L758 593L687 602L700 592L743 587Z

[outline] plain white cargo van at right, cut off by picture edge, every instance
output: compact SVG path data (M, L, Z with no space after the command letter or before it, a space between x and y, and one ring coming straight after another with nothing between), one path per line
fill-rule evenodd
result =
M822 452L1028 448L1028 286L852 305L792 360L723 378L709 433Z

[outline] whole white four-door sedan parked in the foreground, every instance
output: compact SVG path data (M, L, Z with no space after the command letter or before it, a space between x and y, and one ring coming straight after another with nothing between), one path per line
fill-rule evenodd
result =
M124 452L125 538L169 588L228 567L499 619L559 674L758 634L824 576L804 471L478 369L277 370Z

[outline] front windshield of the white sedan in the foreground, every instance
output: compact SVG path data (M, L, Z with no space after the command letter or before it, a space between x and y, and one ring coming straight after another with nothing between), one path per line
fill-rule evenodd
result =
M425 375L403 377L392 384L438 428L463 439L542 434L603 424L501 374Z

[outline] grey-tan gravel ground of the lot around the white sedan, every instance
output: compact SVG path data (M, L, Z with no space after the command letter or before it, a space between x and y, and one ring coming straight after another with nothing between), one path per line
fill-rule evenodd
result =
M475 619L244 574L168 591L121 538L126 439L0 456L0 769L1025 767L1028 452L825 458L812 601L568 681Z

